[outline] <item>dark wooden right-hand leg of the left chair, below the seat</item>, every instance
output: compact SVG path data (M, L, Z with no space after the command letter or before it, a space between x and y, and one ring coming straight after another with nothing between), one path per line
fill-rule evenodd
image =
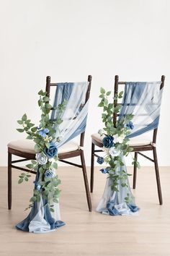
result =
M84 174L84 185L85 185L85 189L86 189L86 199L87 199L89 211L91 212L92 211L91 197L90 197L90 191L89 191L89 183L88 183L87 174L86 174L86 165L85 165L85 161L84 161L84 151L83 150L81 150L81 166L82 166L82 170L83 170L83 174Z

